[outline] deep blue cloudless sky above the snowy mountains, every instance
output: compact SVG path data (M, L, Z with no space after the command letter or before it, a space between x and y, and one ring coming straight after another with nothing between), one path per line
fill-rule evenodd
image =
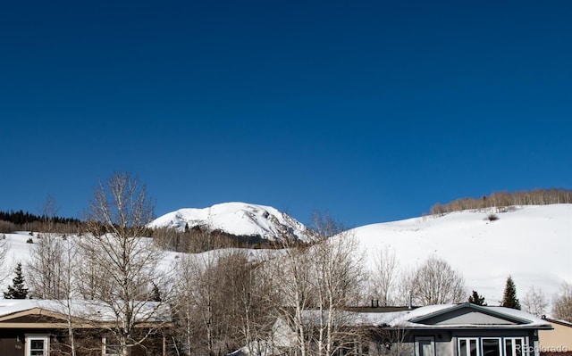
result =
M572 188L572 2L4 2L0 210L81 217L128 171L156 215L348 227Z

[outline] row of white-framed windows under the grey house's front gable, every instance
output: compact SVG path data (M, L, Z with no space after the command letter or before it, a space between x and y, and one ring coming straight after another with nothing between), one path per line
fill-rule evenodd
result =
M458 356L528 356L527 337L458 337Z

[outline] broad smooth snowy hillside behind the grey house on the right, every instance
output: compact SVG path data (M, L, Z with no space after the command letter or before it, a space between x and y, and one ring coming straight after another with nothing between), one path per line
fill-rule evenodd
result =
M498 304L511 275L522 301L531 286L549 301L564 281L572 283L572 204L518 207L495 212L459 211L367 225L353 232L373 265L374 253L389 246L401 267L415 267L431 255L448 261L467 288ZM470 290L469 290L470 292Z

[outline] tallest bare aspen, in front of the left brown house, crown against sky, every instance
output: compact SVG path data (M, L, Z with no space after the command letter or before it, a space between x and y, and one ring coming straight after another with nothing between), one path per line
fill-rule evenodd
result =
M82 257L98 283L90 293L112 310L110 331L125 356L147 337L136 332L138 325L156 316L166 299L153 304L154 310L147 309L150 288L163 286L167 277L157 269L164 253L142 237L153 211L146 186L128 173L114 174L95 190L85 223L87 234L80 243Z

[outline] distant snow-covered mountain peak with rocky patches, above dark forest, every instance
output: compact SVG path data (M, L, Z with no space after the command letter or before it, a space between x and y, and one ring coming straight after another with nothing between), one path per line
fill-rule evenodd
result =
M260 236L274 240L289 234L306 240L306 227L298 220L274 209L272 206L249 203L221 203L204 209L180 209L155 219L150 228L184 229L199 226L222 230L237 236Z

